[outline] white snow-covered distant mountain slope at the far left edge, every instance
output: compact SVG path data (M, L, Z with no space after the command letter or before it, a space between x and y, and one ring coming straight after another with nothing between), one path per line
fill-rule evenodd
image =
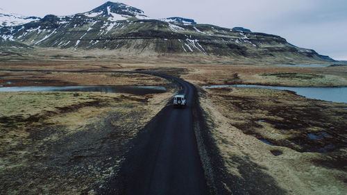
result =
M23 15L7 12L0 8L0 27L17 26L39 20L40 17L26 17Z

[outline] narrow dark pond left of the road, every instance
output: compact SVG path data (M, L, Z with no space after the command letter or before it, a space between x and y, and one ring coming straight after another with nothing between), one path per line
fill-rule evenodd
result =
M158 86L65 86L65 87L0 87L0 92L105 92L135 95L160 94L167 92Z

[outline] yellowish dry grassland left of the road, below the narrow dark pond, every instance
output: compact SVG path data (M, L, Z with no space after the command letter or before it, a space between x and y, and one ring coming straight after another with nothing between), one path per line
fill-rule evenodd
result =
M171 92L0 93L0 191L94 194Z

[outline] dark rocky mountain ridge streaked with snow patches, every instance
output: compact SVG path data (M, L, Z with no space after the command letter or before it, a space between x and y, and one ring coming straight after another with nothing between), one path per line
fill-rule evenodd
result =
M0 42L58 49L108 49L117 54L144 56L223 56L289 63L333 61L276 35L196 24L193 19L181 17L150 19L142 10L110 1L90 12L63 17L46 15L26 24L3 26Z

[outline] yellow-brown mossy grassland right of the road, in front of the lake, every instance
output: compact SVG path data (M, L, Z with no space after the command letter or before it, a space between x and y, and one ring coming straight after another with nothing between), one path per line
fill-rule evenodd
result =
M280 90L206 91L201 104L212 136L228 173L245 189L270 190L262 189L261 176L278 186L270 194L346 194L346 103Z

